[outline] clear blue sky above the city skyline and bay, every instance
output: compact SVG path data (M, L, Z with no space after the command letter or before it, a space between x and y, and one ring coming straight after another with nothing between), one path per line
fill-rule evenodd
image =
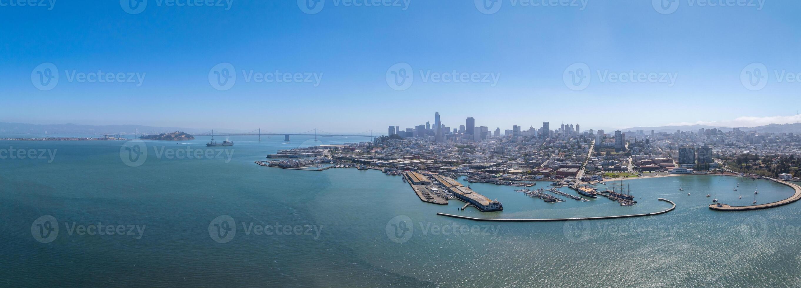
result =
M128 0L10 5L17 1L0 0L0 122L336 132L410 127L433 122L434 112L446 126L473 117L501 130L801 119L801 83L785 77L801 73L801 9L792 1L674 0L668 14L643 0L497 0L492 14L477 8L483 0L324 0L316 14L296 0L147 0L139 14L123 9ZM754 62L767 68L767 84L750 90L741 74ZM50 90L34 85L42 63L58 71ZM230 89L210 83L219 63L235 67ZM396 63L412 68L403 90L388 83ZM589 86L571 87L574 63L589 68ZM74 77L99 70L134 81ZM276 71L304 77L248 76ZM434 80L453 72L479 77ZM613 80L630 72L655 78Z

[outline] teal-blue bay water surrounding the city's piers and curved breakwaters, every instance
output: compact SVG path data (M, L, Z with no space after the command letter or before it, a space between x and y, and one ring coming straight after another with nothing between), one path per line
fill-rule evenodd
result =
M206 150L206 138L145 142L141 166L123 162L124 141L0 142L0 149L55 151L52 159L0 159L6 224L0 286L801 286L801 204L716 212L704 197L747 205L754 190L763 203L792 194L773 182L702 175L632 179L626 184L639 203L630 207L606 198L545 203L516 187L472 183L505 207L481 213L457 210L462 203L455 200L448 206L421 202L400 177L375 170L253 163L279 149L320 144L313 138L231 140L230 158L199 159L157 154ZM473 222L436 214L564 218L670 206L657 198L674 201L676 210L589 222ZM36 226L45 215L58 222L58 234L46 239L51 242L34 237L45 231ZM220 216L235 222L230 241L215 241ZM398 217L409 219L410 227L392 226ZM125 233L74 229L93 224L124 226ZM128 234L128 226L143 232Z

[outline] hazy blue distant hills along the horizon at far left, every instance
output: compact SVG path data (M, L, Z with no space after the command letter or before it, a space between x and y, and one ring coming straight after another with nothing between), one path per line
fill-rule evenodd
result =
M79 125L79 124L25 124L0 122L0 133L27 133L27 134L160 134L172 131L186 131L187 133L200 134L209 129L194 129L181 127L155 127L142 125ZM216 129L215 129L216 130ZM220 132L243 132L239 130L219 130Z

